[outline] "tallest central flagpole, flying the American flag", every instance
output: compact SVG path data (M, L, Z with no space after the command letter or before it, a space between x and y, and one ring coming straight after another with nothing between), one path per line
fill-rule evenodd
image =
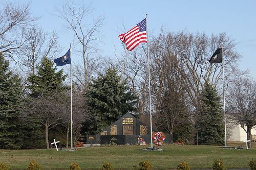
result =
M147 70L148 70L148 86L150 90L150 135L151 135L151 148L153 148L152 140L152 114L151 114L151 88L150 88L150 55L148 51L148 38L147 38L147 13L146 13L146 41L147 41Z

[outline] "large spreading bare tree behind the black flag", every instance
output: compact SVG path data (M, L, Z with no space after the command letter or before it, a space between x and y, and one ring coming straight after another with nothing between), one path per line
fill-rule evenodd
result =
M195 107L198 105L200 90L204 82L209 80L211 84L218 86L222 80L222 64L208 62L217 47L223 47L226 86L233 77L244 74L237 67L241 56L236 52L236 43L226 33L207 36L205 33L193 35L181 32L169 36L179 43L174 48L174 54L181 58L186 67L183 75L184 83L187 85L190 101Z

